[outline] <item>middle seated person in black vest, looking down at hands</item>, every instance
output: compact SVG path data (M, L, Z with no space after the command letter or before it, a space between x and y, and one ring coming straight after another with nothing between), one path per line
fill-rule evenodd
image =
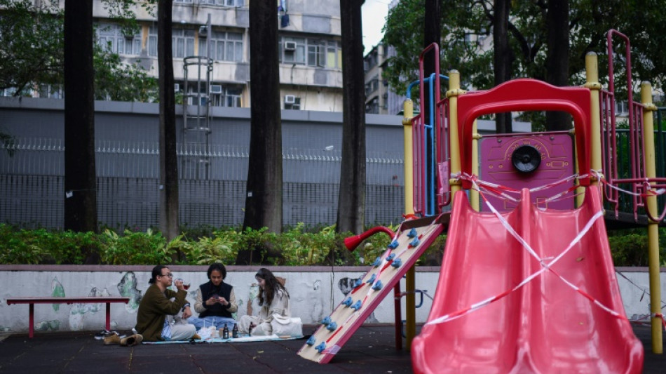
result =
M231 316L231 313L238 310L236 294L233 293L233 286L223 282L225 278L224 265L216 262L208 267L209 281L196 290L194 310L198 312L199 316L198 318L190 317L187 320L196 326L197 330L208 326L215 326L215 329L219 329L226 325L231 331L236 323Z

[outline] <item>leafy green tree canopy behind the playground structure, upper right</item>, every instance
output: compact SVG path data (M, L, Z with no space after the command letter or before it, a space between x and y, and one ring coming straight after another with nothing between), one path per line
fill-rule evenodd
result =
M407 84L418 79L416 67L423 34L414 25L423 22L423 1L400 1L389 12L384 27L385 41L397 50L397 56L390 58L384 76L397 93L405 93ZM511 1L507 38L515 58L511 60L510 76L529 76L560 85L559 78L554 75L556 72L549 72L548 60L548 63L558 64L555 67L557 75L569 65L568 74L564 73L566 84L577 86L585 82L585 54L593 51L599 54L599 76L603 84L607 75L606 31L614 28L631 39L634 80L639 81L640 77L640 80L651 81L656 88L663 86L666 55L661 52L666 48L666 34L660 30L660 20L665 17L666 0L651 0L649 4L637 0L569 1L568 12L563 8L566 4L562 3L559 0ZM442 4L442 67L458 69L463 86L491 88L495 84L494 53L492 50L481 51L477 44L469 42L469 36L489 36L494 29L497 10L492 11L488 1L442 0ZM649 12L645 11L646 7ZM569 17L568 22L565 15ZM559 32L562 34L556 34ZM563 49L564 32L569 34L566 37L569 53ZM547 57L549 48L553 53L550 59ZM616 51L618 48L623 51L623 46L616 41ZM562 61L562 53L566 55L566 61ZM618 58L616 64L616 81L625 82L625 62ZM616 88L622 98L626 88ZM545 125L543 116L538 121L541 126Z

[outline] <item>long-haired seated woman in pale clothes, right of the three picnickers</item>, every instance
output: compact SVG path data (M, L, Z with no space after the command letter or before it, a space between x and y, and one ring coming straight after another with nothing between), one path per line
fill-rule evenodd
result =
M254 275L259 283L259 314L257 316L241 316L238 321L238 330L250 335L271 335L273 328L271 321L275 316L289 319L289 293L269 269L261 268Z

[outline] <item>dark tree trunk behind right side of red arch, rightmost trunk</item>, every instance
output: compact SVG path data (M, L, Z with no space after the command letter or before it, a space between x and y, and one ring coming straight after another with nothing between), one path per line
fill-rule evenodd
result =
M545 80L553 86L569 86L569 1L548 1L546 14L548 51L545 61ZM546 112L548 131L569 130L571 115L566 112Z

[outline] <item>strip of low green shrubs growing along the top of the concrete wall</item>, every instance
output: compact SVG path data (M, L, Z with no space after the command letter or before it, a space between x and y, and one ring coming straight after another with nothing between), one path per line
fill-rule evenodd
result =
M390 227L397 229L397 227ZM0 264L82 264L81 248L97 251L107 265L154 265L172 263L178 250L185 254L182 265L208 265L236 262L238 251L245 248L269 247L280 256L270 258L273 265L330 265L327 255L333 251L334 265L367 265L386 251L390 238L385 234L371 236L349 252L342 242L348 234L337 234L334 226L308 231L302 223L283 234L266 229L238 231L218 229L198 238L177 236L170 242L148 229L136 232L125 229L118 234L105 229L92 232L56 232L46 229L19 229L0 224ZM666 229L659 231L660 260L666 265ZM440 235L416 262L421 266L441 266L447 236ZM647 266L647 234L645 229L609 233L611 254L616 266ZM261 251L258 251L262 253ZM264 256L266 253L264 253ZM259 263L265 258L257 258Z

